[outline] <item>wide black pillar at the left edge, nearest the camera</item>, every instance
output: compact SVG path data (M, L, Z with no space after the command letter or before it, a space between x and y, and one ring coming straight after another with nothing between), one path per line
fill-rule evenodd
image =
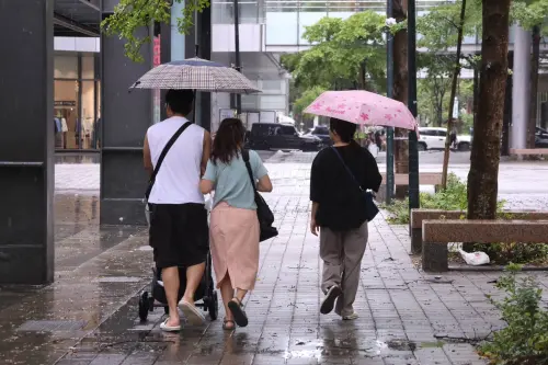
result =
M54 281L54 4L0 1L0 283ZM24 45L24 46L23 46ZM8 132L9 130L9 132Z

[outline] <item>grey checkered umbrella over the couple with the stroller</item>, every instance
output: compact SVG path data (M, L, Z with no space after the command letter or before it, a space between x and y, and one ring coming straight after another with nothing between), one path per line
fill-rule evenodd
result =
M202 58L162 64L145 73L130 89L186 89L239 94L261 92L233 68Z

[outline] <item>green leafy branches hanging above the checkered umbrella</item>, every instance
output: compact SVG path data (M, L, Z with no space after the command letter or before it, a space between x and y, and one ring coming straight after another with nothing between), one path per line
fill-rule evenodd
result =
M137 31L150 26L152 22L169 23L171 4L183 0L121 0L114 13L106 18L101 27L106 35L116 35L125 39L126 56L133 61L141 62L142 45L150 43L150 36L138 36ZM185 34L194 25L194 13L209 7L209 0L184 0L184 9L178 18L179 32Z

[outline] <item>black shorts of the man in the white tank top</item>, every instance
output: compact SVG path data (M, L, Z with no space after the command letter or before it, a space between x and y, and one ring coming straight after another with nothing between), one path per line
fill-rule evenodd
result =
M209 250L204 204L150 204L149 243L158 269L204 263Z

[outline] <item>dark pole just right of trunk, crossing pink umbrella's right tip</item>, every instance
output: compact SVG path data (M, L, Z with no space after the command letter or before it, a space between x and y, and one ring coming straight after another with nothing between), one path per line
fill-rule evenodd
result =
M408 2L408 106L414 117L416 111L416 8L415 0ZM416 149L416 132L409 133L409 209L419 208L419 150Z

